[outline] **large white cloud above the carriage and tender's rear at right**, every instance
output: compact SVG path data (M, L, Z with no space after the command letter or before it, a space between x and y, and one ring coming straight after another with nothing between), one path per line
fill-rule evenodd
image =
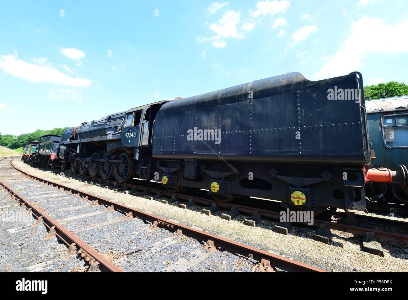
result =
M371 53L408 52L408 40L401 39L408 31L408 21L395 26L385 24L386 20L362 16L353 22L348 38L341 44L322 69L314 76L318 79L348 74L363 66L363 60ZM363 35L361 33L364 32ZM381 37L381 42L373 43ZM398 46L395 45L398 42ZM356 45L359 45L356 47Z

